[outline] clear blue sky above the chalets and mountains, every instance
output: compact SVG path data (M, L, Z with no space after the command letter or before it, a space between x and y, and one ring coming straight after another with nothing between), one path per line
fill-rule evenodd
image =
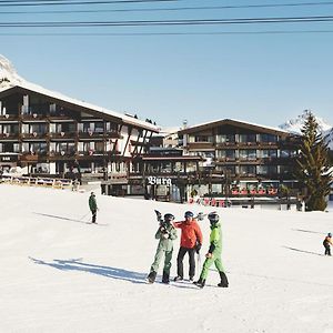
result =
M333 1L325 6L110 11L301 2L314 1L178 0L0 7L0 22L333 16ZM37 13L92 9L103 12ZM17 13L3 13L9 11ZM326 32L304 33L319 30ZM133 36L268 31L301 33ZM62 36L36 36L39 33ZM63 36L65 33L85 34ZM181 125L184 119L193 125L224 118L279 125L304 109L311 109L333 124L333 22L71 29L1 27L0 46L0 53L12 61L24 79L114 111L137 113L140 119L149 118L162 127Z

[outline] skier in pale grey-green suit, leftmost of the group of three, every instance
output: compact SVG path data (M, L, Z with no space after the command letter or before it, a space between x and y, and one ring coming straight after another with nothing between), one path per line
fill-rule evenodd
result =
M163 255L164 255L164 266L163 266L162 282L167 284L170 282L173 240L176 239L176 230L173 228L171 223L173 220L174 216L169 213L164 215L164 221L162 219L159 219L160 226L155 233L155 239L160 241L155 253L154 262L152 263L150 268L150 273L147 276L149 283L154 283L159 270L159 265Z

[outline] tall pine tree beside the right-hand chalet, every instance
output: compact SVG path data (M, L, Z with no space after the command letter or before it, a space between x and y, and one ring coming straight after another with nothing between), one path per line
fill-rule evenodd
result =
M295 176L305 190L306 210L324 211L327 205L325 198L332 183L329 149L314 115L310 111L306 113L307 118L301 130L302 143Z

